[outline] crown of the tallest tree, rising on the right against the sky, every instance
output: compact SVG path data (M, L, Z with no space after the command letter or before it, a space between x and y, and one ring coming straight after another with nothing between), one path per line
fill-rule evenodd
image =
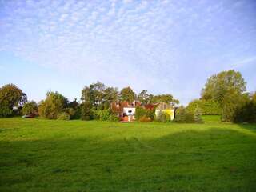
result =
M242 74L238 71L228 70L208 78L202 89L201 97L217 101L222 106L227 94L230 92L242 94L244 91L246 91L246 82L242 78Z

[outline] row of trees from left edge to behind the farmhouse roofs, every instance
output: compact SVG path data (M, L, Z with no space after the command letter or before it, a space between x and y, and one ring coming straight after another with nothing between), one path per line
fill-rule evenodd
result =
M95 82L82 89L81 100L69 101L58 92L48 91L46 98L39 103L28 102L27 96L18 86L7 84L0 88L0 117L11 117L18 114L38 114L48 119L78 119L113 120L117 117L111 114L111 102L133 102L134 100L144 104L155 102L167 102L174 106L179 103L172 94L150 94L142 90L135 94L134 90L127 86L122 90L116 87L106 86L102 82ZM14 110L15 108L15 110Z

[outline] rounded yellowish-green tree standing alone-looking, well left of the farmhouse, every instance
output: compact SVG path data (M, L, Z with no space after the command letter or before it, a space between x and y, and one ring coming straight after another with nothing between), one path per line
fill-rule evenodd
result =
M46 99L39 103L38 112L42 118L56 119L66 106L68 100L58 92L47 92Z

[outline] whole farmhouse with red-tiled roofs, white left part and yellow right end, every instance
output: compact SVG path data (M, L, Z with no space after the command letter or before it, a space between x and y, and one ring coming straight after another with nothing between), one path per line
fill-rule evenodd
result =
M135 120L136 106L142 106L140 102L112 102L111 110L122 121L130 122ZM170 115L170 119L174 119L174 108L166 102L158 102L154 104L146 104L142 106L146 110L155 110L155 115L158 115L160 111Z

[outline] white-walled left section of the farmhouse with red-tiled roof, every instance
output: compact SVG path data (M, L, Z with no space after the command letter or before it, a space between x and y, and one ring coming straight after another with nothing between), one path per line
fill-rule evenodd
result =
M111 110L122 121L131 122L135 120L135 108L141 106L140 102L111 102Z

